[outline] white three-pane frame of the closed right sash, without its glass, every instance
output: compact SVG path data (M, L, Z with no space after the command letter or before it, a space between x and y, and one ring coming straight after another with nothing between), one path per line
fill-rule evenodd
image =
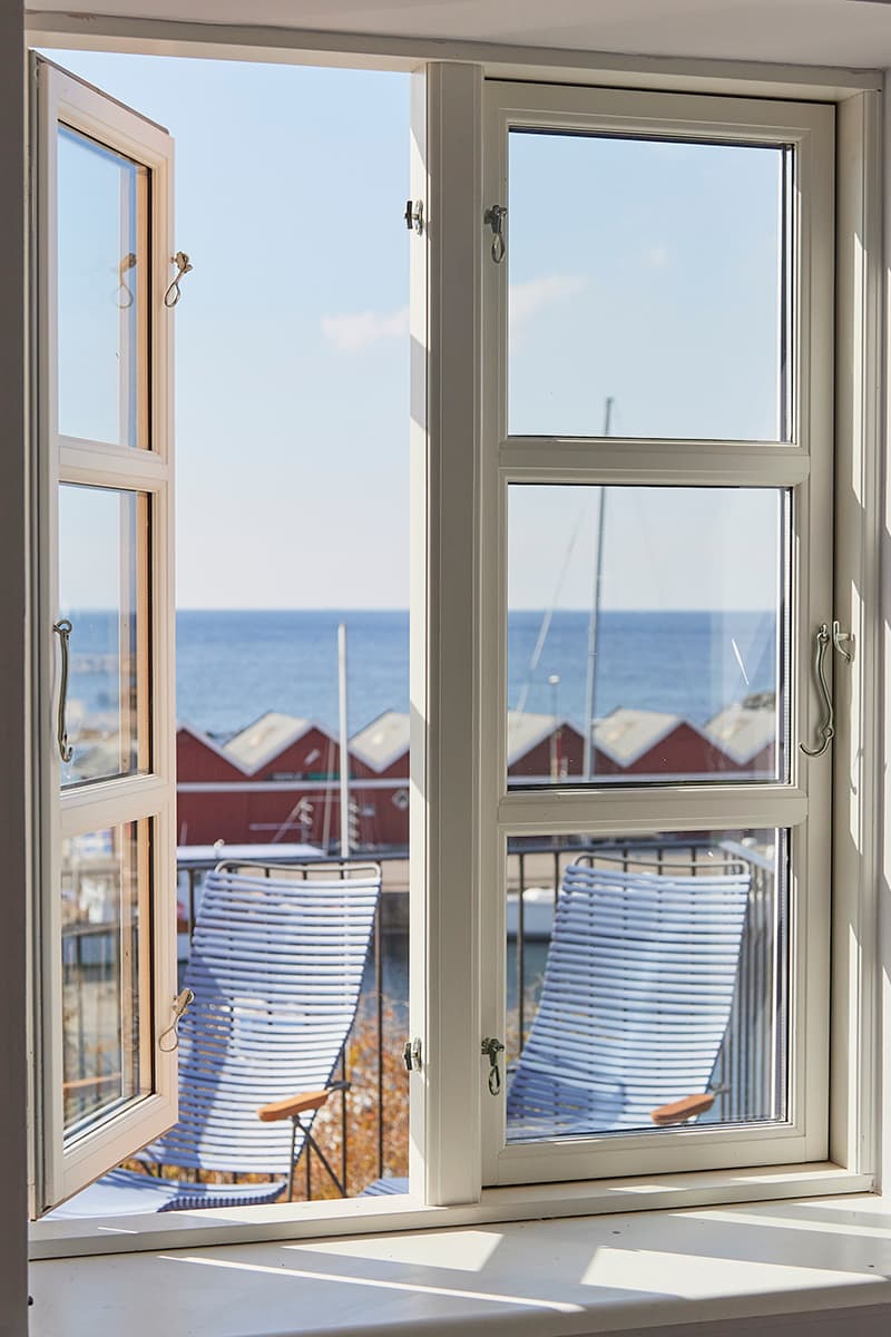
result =
M788 1120L561 1138L505 1146L505 1102L482 1095L484 1182L593 1179L721 1166L820 1161L828 1148L828 937L831 758L806 758L822 703L812 681L814 631L832 607L832 231L835 128L830 107L701 95L486 86L486 203L508 199L512 128L629 134L716 143L791 144L795 152L791 440L635 440L510 435L506 422L508 265L486 265L482 441L481 904L492 969L484 1032L505 1034L505 909L509 836L625 838L679 830L776 828L789 836ZM554 202L560 207L560 202ZM554 227L554 235L560 231ZM510 217L508 215L508 247ZM554 790L506 785L508 489L512 484L752 485L792 495L789 783L729 781ZM497 521L494 517L498 517ZM836 668L836 683L842 678ZM500 889L492 894L489 888Z

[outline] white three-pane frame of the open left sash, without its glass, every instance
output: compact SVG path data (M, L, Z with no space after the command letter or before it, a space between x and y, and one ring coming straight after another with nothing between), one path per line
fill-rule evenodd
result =
M172 533L172 333L171 321L158 318L170 281L172 237L172 140L163 130L128 108L98 94L83 82L36 60L33 66L36 263L40 283L35 293L36 376L39 394L36 516L39 550L35 618L35 771L41 813L37 845L40 876L35 881L35 979L39 989L35 1043L35 1107L39 1110L40 1146L35 1150L33 1210L48 1210L71 1197L134 1150L176 1120L176 1055L158 1047L170 1023L176 992L176 848L174 774L174 533ZM57 429L56 369L56 127L69 128L142 163L150 172L148 253L152 290L147 293L148 344L144 357L150 374L144 405L150 440L142 447L110 445L60 435ZM148 448L151 447L151 448ZM151 663L146 685L151 739L146 739L151 767L144 774L122 775L60 789L56 710L59 646L52 623L57 608L59 485L65 483L140 493L150 500L147 543L148 598L144 635ZM84 536L88 541L88 537ZM148 699L151 698L151 699ZM140 1094L120 1110L102 1115L80 1136L65 1143L63 1115L61 1016L61 902L60 850L64 837L148 822L148 849L143 873L148 880L140 943ZM148 941L146 940L148 932Z

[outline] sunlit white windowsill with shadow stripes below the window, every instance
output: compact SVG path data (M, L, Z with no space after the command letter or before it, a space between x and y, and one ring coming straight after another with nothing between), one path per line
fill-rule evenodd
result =
M891 1201L741 1206L35 1263L32 1337L601 1333L888 1306ZM886 1321L884 1318L879 1322ZM878 1326L875 1330L880 1330Z

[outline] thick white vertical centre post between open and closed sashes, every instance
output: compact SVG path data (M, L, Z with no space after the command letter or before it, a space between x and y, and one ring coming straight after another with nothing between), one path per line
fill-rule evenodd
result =
M414 437L425 475L426 664L413 681L413 869L423 864L426 1032L422 1118L429 1203L480 1197L477 963L477 496L480 447L480 235L482 71L426 70L426 370ZM419 167L419 164L418 164ZM414 178L417 179L417 176ZM421 733L421 738L417 734ZM417 743L417 761L414 745ZM415 840L423 845L417 849ZM417 860L417 862L415 862ZM418 944L414 937L413 943ZM413 959L417 960L417 955ZM418 975L413 969L413 981ZM414 987L413 984L413 987ZM413 1015L417 1007L413 1004ZM417 1158L414 1166L417 1165Z

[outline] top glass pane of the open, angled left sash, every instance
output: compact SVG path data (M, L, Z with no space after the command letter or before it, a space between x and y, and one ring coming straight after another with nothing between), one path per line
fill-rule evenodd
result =
M148 172L59 126L59 432L147 445Z

